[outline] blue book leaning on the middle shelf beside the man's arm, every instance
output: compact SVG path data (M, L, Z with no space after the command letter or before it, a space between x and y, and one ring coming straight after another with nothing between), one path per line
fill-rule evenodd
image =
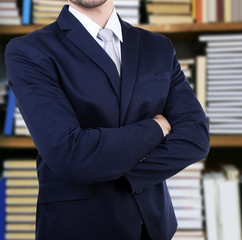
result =
M9 89L7 111L5 115L5 122L4 122L4 128L3 128L4 135L13 134L14 112L15 112L15 99L14 99L12 90Z

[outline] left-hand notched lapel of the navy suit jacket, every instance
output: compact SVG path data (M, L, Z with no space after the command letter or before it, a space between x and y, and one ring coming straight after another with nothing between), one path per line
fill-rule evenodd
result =
M69 12L67 5L63 7L57 18L57 23L63 31L68 30L66 37L103 69L120 102L120 77L114 62L85 27Z

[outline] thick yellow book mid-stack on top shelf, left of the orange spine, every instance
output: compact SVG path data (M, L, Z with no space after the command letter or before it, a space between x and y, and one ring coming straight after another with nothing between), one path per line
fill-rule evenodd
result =
M152 4L147 3L148 13L157 14L189 14L191 13L190 4Z

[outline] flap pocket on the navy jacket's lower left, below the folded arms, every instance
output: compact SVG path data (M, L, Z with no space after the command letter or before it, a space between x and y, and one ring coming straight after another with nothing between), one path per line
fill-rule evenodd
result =
M93 196L92 185L72 184L65 180L53 179L39 183L38 203L87 199Z

